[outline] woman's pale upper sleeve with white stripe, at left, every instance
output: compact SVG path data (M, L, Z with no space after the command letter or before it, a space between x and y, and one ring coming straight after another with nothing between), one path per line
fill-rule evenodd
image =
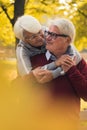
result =
M30 56L27 54L27 50L24 49L22 45L17 46L16 57L19 75L24 76L30 73L32 70Z

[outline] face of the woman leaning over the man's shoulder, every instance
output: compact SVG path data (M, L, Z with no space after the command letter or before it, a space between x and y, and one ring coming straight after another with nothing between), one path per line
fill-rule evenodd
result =
M24 30L23 36L24 36L24 42L34 47L39 47L44 44L44 34L42 31L39 31L37 34L33 34Z

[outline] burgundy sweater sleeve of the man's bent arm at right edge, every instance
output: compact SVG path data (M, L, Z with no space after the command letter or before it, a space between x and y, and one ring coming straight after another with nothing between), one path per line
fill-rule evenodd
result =
M66 73L80 98L87 101L87 64L82 59Z

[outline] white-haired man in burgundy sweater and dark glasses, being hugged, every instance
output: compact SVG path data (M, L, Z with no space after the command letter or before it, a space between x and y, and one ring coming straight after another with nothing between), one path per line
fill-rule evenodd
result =
M32 58L32 65L42 66L58 59L55 64L61 66L65 74L48 82L49 70L37 68L27 79L33 79L38 86L41 105L44 108L43 128L45 130L77 130L80 112L80 98L87 101L87 64L83 58L76 65L76 58L65 55L74 41L75 27L67 19L53 20L46 31L46 55ZM41 62L39 62L41 61ZM43 84L41 84L43 83ZM46 116L46 118L45 118Z

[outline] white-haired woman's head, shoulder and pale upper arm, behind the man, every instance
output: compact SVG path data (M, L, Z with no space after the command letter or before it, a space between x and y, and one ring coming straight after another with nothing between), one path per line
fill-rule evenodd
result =
M43 32L35 17L23 15L17 19L14 33L20 40L16 47L18 74L24 76L32 70L30 57L46 51Z

